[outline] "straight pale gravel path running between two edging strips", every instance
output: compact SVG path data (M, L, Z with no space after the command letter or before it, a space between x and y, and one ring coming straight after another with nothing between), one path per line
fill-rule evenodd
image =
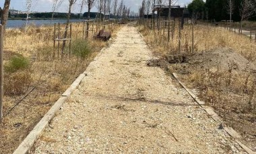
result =
M88 66L34 153L244 153L125 25Z

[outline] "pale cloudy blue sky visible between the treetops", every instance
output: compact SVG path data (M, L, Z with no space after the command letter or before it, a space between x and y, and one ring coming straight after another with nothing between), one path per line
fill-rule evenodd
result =
M32 0L32 11L38 12L49 12L53 6L53 0ZM65 2L59 7L58 12L67 12L68 11L68 0L64 0ZM79 12L79 1L77 0L77 4L73 6L72 12ZM131 11L137 12L139 5L141 5L142 0L124 0L125 5L131 8ZM179 5L184 6L190 3L192 0L179 0ZM3 8L3 1L0 1L0 6ZM17 9L19 11L26 11L26 0L11 0L10 9ZM87 9L84 8L83 12ZM92 11L97 11L94 7Z

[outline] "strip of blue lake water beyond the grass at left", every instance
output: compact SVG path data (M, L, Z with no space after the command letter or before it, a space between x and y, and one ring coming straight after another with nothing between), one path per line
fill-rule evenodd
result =
M71 22L77 22L79 19L71 19ZM52 24L54 23L65 23L67 22L67 19L55 19L52 21ZM51 20L29 20L28 24L33 24L36 26L40 25L50 25ZM8 20L7 21L7 28L19 28L24 27L26 25L26 20Z

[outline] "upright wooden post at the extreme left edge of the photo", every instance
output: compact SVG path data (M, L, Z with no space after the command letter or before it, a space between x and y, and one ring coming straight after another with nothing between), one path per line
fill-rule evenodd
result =
M3 25L0 25L0 121L3 119Z

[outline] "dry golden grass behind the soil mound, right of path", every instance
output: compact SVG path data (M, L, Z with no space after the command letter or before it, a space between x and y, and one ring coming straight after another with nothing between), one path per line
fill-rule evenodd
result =
M161 56L175 54L179 52L179 31L178 25L174 30L174 40L167 40L167 32L163 29L155 33L151 29L139 27L141 33L145 35L146 42L152 46L154 52ZM250 40L244 35L238 35L232 31L227 31L221 27L212 27L205 25L195 25L194 27L194 52L207 52L216 47L228 47L242 54L249 60L256 59L256 44L254 40ZM181 30L181 52L191 54L192 48L192 25L185 25Z

